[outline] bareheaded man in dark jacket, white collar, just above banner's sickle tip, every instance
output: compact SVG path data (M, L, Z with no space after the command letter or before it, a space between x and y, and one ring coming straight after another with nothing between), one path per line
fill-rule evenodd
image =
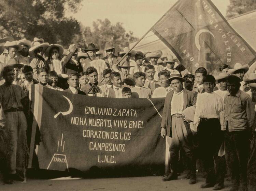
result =
M86 95L85 92L78 89L79 86L79 73L70 73L68 75L69 88L65 89L63 92L69 92L74 94Z

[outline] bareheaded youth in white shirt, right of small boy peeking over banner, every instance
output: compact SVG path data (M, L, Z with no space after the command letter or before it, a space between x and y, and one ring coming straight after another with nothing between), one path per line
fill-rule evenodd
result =
M131 88L133 98L150 98L151 89L143 87L145 84L145 73L135 72L133 74L133 79L135 80L136 85Z

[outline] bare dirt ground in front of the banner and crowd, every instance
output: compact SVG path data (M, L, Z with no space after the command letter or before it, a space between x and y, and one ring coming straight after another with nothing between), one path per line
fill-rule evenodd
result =
M27 183L14 181L13 185L0 185L0 191L109 191L109 190L168 190L168 191L209 191L212 188L201 189L200 185L204 183L202 176L197 177L197 183L189 185L184 179L184 175L179 176L178 180L163 182L161 176L146 177L123 177L123 178L71 178L59 177L53 179L27 179ZM230 186L230 182L225 181L224 191Z

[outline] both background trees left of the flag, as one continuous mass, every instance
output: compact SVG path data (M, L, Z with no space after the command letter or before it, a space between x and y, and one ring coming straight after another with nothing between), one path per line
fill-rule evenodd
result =
M107 41L123 48L138 40L123 24L111 24L108 19L85 27L65 12L76 13L82 0L0 0L0 38L12 36L15 40L43 38L50 44L67 48L71 43L85 47L89 42L104 48Z

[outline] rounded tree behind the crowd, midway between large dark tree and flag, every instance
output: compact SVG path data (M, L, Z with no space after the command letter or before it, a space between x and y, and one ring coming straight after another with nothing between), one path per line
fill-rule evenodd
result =
M125 31L123 23L111 24L108 19L94 21L92 29L90 27L83 27L82 37L84 42L87 42L87 44L88 42L93 42L100 49L104 49L108 41L122 49L128 47L130 42L138 40L131 31L128 33Z

